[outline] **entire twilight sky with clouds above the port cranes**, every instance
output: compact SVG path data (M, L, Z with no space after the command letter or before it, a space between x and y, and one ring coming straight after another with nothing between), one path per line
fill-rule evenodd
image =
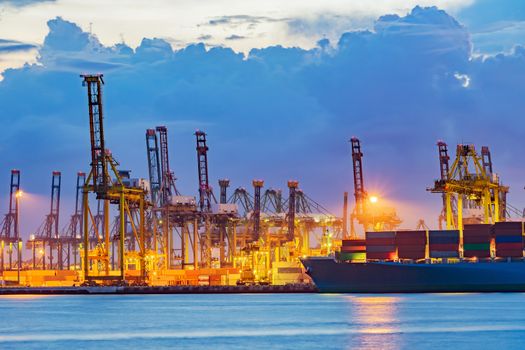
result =
M145 129L169 127L185 194L196 193L199 128L214 184L284 189L296 178L337 214L358 136L365 185L409 228L437 225L439 196L425 191L436 140L488 145L523 207L525 3L371 3L0 1L0 208L9 169L21 169L22 230L34 231L57 169L66 224L76 171L89 164L81 72L105 74L107 143L122 168L146 177Z

